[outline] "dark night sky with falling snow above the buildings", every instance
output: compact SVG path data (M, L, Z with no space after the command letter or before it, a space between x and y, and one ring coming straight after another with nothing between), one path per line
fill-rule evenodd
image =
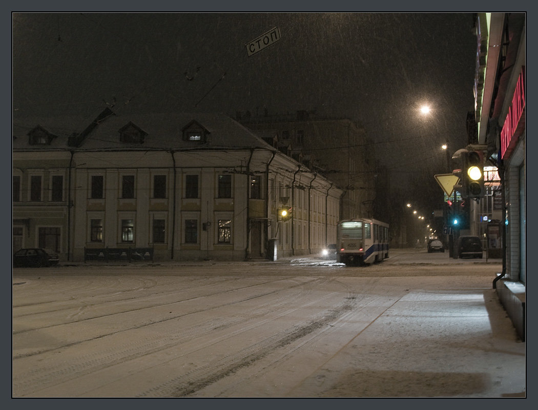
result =
M394 190L424 184L417 202L442 200L441 145L467 143L472 13L14 13L12 22L15 124L91 118L107 103L232 117L315 110L361 123ZM245 44L273 27L280 41L247 56Z

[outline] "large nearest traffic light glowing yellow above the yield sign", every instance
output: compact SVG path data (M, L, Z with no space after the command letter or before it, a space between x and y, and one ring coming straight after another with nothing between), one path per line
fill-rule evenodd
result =
M484 196L484 158L482 151L468 149L457 150L452 155L455 168L453 175L459 178L454 186L462 197L478 198Z

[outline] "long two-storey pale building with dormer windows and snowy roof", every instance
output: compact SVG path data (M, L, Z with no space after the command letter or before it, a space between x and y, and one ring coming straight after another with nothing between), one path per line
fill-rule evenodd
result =
M342 190L223 114L15 120L12 158L13 251L244 260L335 242Z

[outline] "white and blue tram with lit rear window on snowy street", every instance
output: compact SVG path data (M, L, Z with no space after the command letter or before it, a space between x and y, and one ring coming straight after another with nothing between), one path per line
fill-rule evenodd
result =
M352 265L369 265L388 258L388 224L369 218L338 222L336 260Z

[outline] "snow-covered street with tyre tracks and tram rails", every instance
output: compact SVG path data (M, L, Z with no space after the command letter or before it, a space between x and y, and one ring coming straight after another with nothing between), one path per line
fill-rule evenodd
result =
M522 397L499 260L13 271L13 397Z

